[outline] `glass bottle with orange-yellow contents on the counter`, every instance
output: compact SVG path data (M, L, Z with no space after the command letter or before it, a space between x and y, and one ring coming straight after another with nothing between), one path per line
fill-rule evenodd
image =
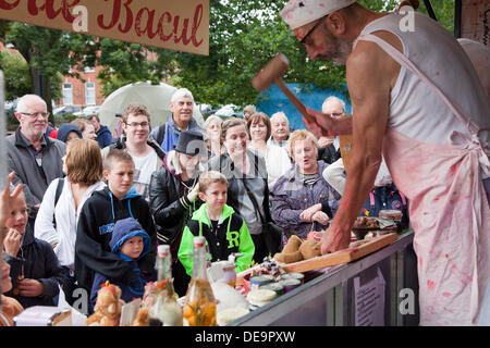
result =
M184 302L189 326L216 326L216 299L207 275L206 239L194 237L193 275Z

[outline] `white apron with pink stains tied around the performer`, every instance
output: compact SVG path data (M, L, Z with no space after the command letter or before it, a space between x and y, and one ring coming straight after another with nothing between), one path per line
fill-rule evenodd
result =
M420 325L473 325L490 279L490 208L481 171L490 175L480 128L399 50L373 35L402 66L428 84L463 122L451 145L420 141L388 127L383 156L396 187L409 200L418 260ZM487 128L486 128L487 129Z

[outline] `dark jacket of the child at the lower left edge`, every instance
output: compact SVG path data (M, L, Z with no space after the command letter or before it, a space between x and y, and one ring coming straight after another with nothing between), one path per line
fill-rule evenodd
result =
M12 290L5 295L15 298L24 308L33 306L56 306L53 297L59 294L58 284L64 279L63 269L52 247L45 240L34 237L34 228L27 224L21 249L15 257L4 253L10 264ZM45 286L45 294L38 297L24 297L13 294L17 278L24 271L24 278L37 279Z

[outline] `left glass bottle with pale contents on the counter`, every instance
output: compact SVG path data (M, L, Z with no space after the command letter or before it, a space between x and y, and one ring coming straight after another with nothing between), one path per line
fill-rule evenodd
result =
M170 246L158 246L155 268L158 271L157 288L155 289L151 308L148 311L150 326L182 326L183 312L173 288L172 256Z

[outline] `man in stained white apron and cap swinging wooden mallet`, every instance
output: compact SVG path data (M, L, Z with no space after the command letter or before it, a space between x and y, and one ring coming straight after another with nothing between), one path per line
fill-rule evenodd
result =
M473 325L490 279L489 102L456 39L414 12L407 30L404 13L355 0L293 0L281 11L310 59L346 64L353 115L308 109L315 122L304 119L317 137L353 136L322 253L348 246L383 154L411 202L420 325Z

